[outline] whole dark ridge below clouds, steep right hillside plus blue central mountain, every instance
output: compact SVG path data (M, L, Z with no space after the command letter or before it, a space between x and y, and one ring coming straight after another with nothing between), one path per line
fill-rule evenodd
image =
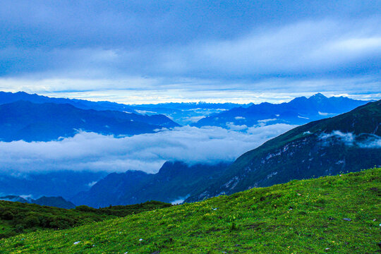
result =
M109 174L75 204L128 205L147 200L194 202L293 179L358 171L381 164L381 101L284 133L229 166L166 162L157 174Z

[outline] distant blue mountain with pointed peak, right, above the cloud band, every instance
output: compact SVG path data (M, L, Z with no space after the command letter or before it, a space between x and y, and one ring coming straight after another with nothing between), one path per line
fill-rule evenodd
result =
M263 102L250 107L235 107L200 119L193 126L255 126L258 124L304 124L342 114L367 102L347 97L325 97L317 93L309 98L297 97L291 102L271 104Z

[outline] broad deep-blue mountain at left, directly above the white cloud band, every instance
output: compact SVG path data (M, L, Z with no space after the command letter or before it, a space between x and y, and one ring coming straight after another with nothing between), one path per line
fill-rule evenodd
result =
M0 105L0 140L49 141L79 130L104 135L155 133L179 126L167 116L78 109L71 104L17 101Z

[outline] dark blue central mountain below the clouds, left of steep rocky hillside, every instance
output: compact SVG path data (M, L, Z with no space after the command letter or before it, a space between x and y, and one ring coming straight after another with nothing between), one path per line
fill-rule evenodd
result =
M157 174L143 171L112 173L89 191L75 195L71 201L92 207L131 205L149 200L181 202L217 179L228 166L227 163L188 166L184 162L165 162Z

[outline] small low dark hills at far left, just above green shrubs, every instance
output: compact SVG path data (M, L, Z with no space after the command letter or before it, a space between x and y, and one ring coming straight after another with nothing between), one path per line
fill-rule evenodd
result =
M37 200L34 200L32 198L22 198L17 195L6 195L4 197L0 197L0 200L6 200L6 201L12 201L12 202L23 202L23 203L36 204L36 205L47 205L51 207L59 207L59 208L65 208L65 209L75 208L75 205L72 202L67 201L62 197L42 196L41 198L37 198Z

